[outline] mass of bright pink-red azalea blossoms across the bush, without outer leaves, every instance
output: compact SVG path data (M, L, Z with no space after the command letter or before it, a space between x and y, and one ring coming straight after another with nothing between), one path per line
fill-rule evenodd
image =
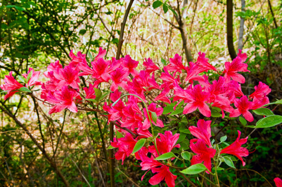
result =
M64 109L74 113L78 110L91 111L91 108L86 107L88 103L92 107L94 101L102 103L97 90L100 92L99 88L107 88L110 96L108 102L104 102L103 112L107 113L108 122L118 124L116 128L125 135L111 142L112 147L118 148L115 158L124 161L132 154L138 140L152 138L152 141L147 141L147 146L135 152L142 170L157 173L149 180L152 185L162 180L168 186L175 185L176 175L170 171L170 161L175 157L169 158L167 164L155 160L156 157L180 147L177 144L179 134L175 132L165 131L164 134L158 133L156 137L153 134L153 128L165 127L164 121L160 119L165 107L173 107L173 111L182 108L183 115L187 118L195 116L188 114L210 118L211 109L217 108L221 111L222 118L229 113L229 117L243 115L251 122L254 119L250 110L269 103L267 95L271 89L263 82L259 82L249 96L241 91L240 84L245 82L245 78L240 72L249 71L247 55L240 50L231 63L225 63L223 71L213 67L205 53L201 52L198 53L196 62L189 62L189 66L185 66L182 57L175 54L163 69L156 66L150 58L145 59L142 68L129 55L110 60L104 59L105 55L106 50L99 48L98 54L88 63L85 54L78 52L75 55L71 51L72 60L67 66L63 67L59 61L55 61L47 67L44 76L48 81L37 81L40 72L30 68L28 74L20 76L25 85L19 83L10 72L1 89L7 92L7 99L18 91L32 92L34 86L41 85L41 99L51 107L49 114L52 114ZM204 73L208 71L214 71L218 78L210 81ZM79 77L83 77L84 81L80 82ZM26 89L22 89L23 87ZM125 93L127 98L120 99ZM95 111L101 108L97 105ZM210 140L210 126L211 120L199 119L197 127L189 127L191 134L196 137L190 140L190 149L194 152L191 165L203 162L208 170L206 172L210 173L211 159L218 158L221 154L232 154L245 165L242 157L248 156L249 152L241 145L247 142L248 137L240 139L241 133L238 131L235 142L224 149L216 149Z

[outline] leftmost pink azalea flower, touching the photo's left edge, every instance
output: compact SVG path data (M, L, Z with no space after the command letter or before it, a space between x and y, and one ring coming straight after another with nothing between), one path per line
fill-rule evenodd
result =
M19 88L24 87L21 85L16 79L13 77L12 72L10 71L9 75L5 75L4 78L4 84L0 86L2 90L7 91L7 94L4 96L4 99L6 100L7 98L11 97L14 95L16 92L15 91Z

